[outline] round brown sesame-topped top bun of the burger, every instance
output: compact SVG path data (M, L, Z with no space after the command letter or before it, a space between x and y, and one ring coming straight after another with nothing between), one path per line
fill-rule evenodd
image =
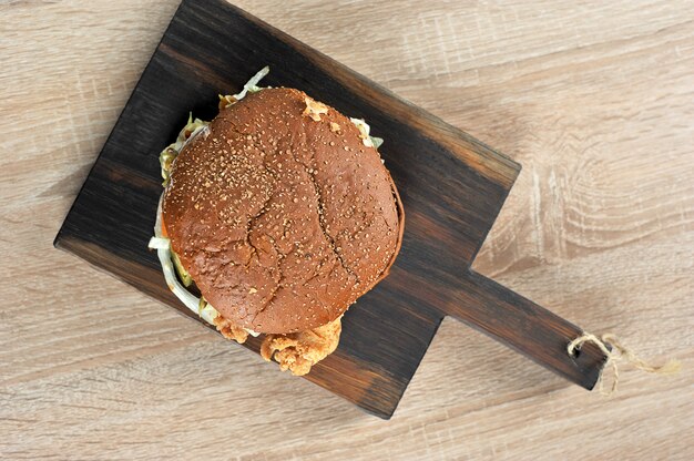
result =
M376 148L331 107L306 114L307 102L266 89L223 109L176 157L164 196L172 248L205 299L257 332L336 319L387 274L402 239Z

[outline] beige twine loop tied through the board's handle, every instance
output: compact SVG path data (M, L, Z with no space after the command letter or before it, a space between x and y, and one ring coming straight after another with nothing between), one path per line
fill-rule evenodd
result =
M581 346L583 346L585 342L591 342L598 346L602 354L604 354L608 358L608 360L605 361L605 367L608 365L612 367L612 373L614 375L614 378L612 379L612 387L610 391L605 392L603 390L602 373L600 375L600 378L598 380L600 393L602 393L603 396L610 396L616 391L616 386L620 381L619 363L621 361L631 363L639 370L656 375L675 375L682 368L680 361L674 359L667 360L660 367L651 365L647 361L637 357L632 349L624 346L618 339L618 337L611 332L606 332L602 335L602 338L599 338L595 335L584 331L583 335L569 342L569 345L567 346L567 352L569 352L569 356L575 357L576 351L580 351ZM610 350L610 347L612 348L612 350Z

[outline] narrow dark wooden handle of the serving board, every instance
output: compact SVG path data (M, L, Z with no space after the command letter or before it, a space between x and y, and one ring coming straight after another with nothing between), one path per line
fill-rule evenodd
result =
M567 346L583 330L509 288L474 272L461 279L458 303L446 314L483 331L568 380L593 389L606 357L586 342L575 357Z

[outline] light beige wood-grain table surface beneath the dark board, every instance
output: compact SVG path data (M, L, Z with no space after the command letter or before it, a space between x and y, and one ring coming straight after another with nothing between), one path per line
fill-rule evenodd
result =
M390 421L52 248L176 3L0 0L0 458L694 457L694 2L237 2L522 163L477 270L684 366L601 397L449 319Z

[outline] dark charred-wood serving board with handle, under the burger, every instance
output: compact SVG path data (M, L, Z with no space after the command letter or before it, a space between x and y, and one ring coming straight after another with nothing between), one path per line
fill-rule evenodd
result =
M263 84L304 90L364 117L386 140L380 152L406 209L391 274L347 313L339 348L306 379L389 418L442 318L453 316L594 386L600 350L586 345L576 358L565 351L580 328L470 270L520 165L223 0L181 3L55 246L197 319L169 291L147 250L162 192L159 152L190 111L212 119L217 94L236 93L264 65L271 73ZM257 351L258 344L247 346ZM268 365L258 358L258 366Z

